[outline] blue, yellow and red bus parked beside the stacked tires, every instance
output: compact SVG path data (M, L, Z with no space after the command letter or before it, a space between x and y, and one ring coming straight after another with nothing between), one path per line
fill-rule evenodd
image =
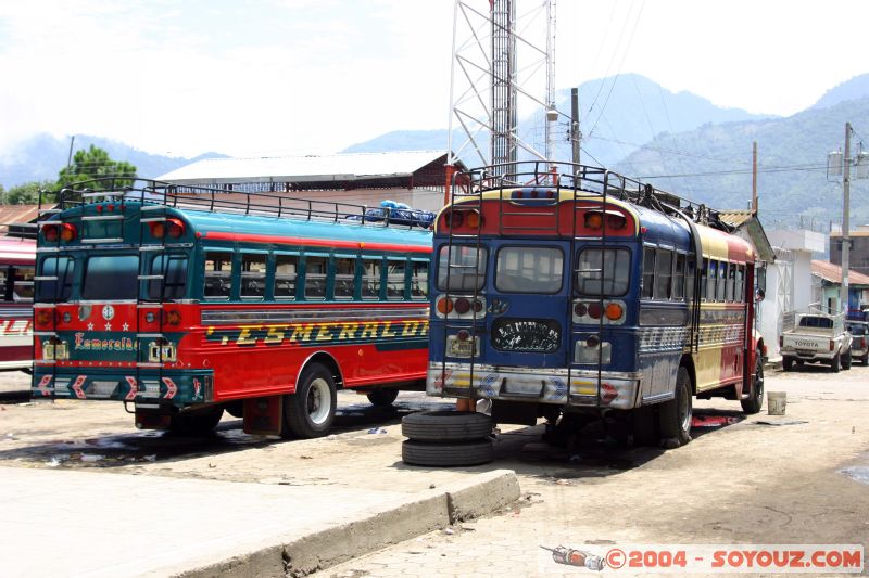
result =
M428 394L491 400L496 423L604 419L642 444L687 442L694 396L759 411L757 262L731 233L605 169L457 172L436 219Z

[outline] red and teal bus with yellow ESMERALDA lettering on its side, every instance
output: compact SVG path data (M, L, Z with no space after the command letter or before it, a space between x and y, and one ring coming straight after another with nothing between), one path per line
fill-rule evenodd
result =
M431 232L401 211L137 180L39 221L35 397L142 428L326 434L336 390L425 387ZM410 215L410 216L408 216Z

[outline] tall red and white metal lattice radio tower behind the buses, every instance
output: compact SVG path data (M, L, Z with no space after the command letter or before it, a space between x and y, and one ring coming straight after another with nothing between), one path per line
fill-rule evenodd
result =
M555 0L455 1L448 182L459 157L469 165L553 159L558 117L569 120L555 108L554 52ZM537 130L519 133L520 113L536 129L542 124L542 140Z

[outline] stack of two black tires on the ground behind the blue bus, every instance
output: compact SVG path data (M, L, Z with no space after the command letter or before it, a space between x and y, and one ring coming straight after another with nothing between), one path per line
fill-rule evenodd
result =
M491 462L492 419L474 411L421 411L401 421L401 459L413 465L479 465Z

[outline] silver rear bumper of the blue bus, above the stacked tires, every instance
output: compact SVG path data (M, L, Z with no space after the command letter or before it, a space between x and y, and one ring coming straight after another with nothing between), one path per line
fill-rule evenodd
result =
M633 409L640 373L567 369L502 368L475 363L429 363L426 393L439 397L487 398L601 409ZM471 376L473 375L473 376ZM569 395L568 395L569 394Z

